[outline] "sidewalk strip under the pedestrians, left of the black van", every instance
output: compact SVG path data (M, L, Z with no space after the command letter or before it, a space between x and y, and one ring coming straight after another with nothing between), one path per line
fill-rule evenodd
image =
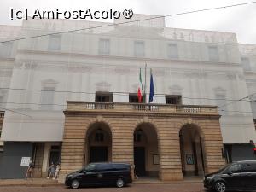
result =
M63 183L58 183L57 180L47 179L47 178L34 178L31 179L0 179L0 187L1 186L9 186L9 185L15 185L15 186L55 186L55 185L61 185Z

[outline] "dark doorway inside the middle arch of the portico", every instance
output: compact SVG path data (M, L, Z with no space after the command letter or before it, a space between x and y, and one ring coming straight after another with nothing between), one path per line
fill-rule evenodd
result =
M145 148L135 147L134 148L134 165L137 176L145 176Z

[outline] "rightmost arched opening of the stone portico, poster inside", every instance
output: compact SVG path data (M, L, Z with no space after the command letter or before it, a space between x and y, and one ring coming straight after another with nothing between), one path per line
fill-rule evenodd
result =
M205 162L200 128L191 124L183 125L179 140L183 177L203 176Z

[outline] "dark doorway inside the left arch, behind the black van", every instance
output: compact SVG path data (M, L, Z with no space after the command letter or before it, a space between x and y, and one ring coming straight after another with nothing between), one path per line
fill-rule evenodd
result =
M108 147L90 147L90 163L108 161Z

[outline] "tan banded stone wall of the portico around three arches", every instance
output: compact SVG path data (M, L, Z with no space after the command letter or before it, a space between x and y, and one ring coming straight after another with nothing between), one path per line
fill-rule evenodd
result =
M121 115L121 116L120 116ZM61 153L61 179L68 172L84 165L85 135L88 127L96 122L107 124L112 131L112 160L133 164L133 132L137 125L153 125L158 138L160 153L160 179L183 179L180 158L179 130L183 125L195 124L201 129L204 139L206 172L213 172L224 166L222 159L222 137L218 116L172 116L142 113L83 113L66 112L65 131Z

